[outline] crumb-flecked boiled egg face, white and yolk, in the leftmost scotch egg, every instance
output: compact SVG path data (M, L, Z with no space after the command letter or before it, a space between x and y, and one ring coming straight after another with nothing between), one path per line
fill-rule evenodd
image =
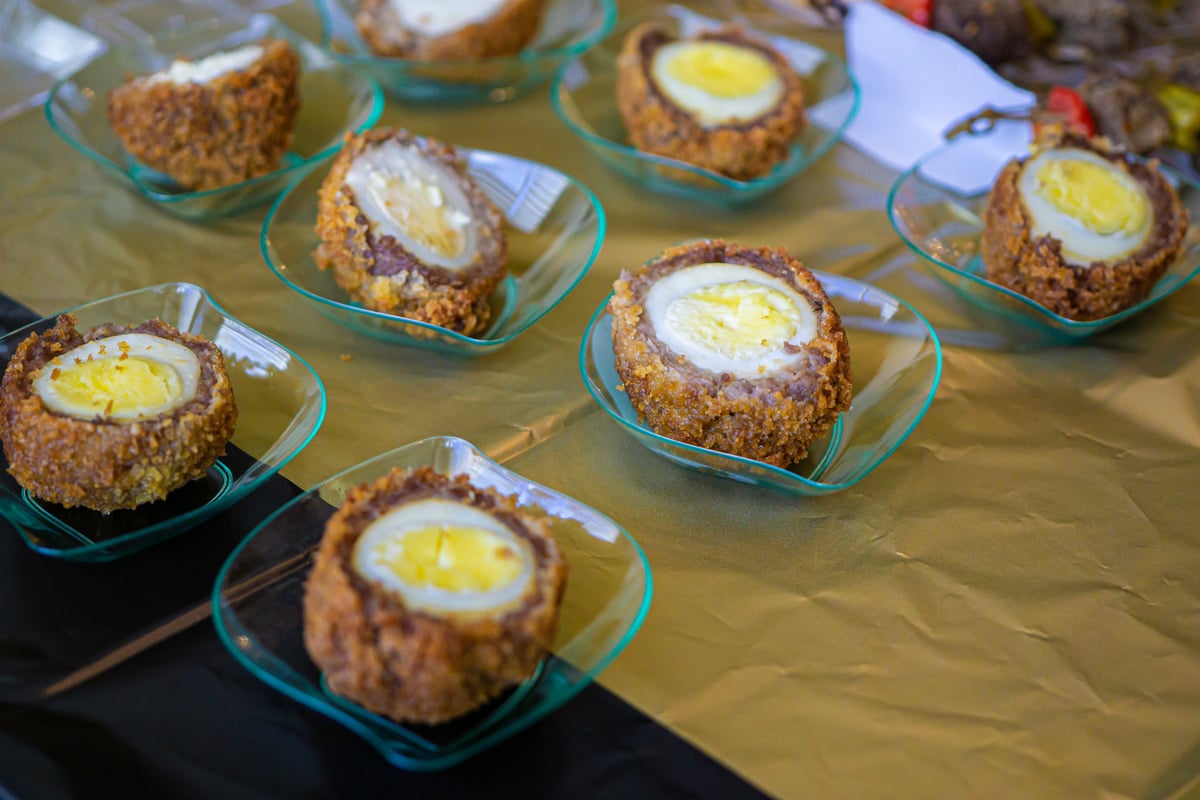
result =
M52 411L80 420L137 422L196 397L200 362L187 347L149 333L108 336L56 356L34 378Z

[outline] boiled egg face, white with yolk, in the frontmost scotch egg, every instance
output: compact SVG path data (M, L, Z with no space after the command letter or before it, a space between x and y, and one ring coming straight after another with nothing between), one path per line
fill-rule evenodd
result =
M502 521L443 498L406 503L367 525L354 546L359 575L434 613L499 613L534 573L533 551Z

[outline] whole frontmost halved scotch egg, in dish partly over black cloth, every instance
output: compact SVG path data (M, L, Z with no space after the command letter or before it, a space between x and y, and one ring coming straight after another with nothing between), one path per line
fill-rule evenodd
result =
M305 646L338 694L400 722L445 722L534 673L565 581L550 527L515 498L394 469L326 523Z

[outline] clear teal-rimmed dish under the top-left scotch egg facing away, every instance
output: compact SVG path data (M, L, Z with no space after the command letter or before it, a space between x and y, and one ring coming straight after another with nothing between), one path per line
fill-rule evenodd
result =
M295 139L281 167L240 184L187 192L139 164L108 125L108 92L131 76L157 72L179 55L202 58L263 37L283 38L300 56L300 114ZM265 203L296 173L325 161L347 131L362 131L383 113L383 91L366 76L338 64L312 42L266 14L214 19L168 30L139 44L114 48L74 77L59 82L46 102L55 133L106 172L160 207L187 219L210 219Z

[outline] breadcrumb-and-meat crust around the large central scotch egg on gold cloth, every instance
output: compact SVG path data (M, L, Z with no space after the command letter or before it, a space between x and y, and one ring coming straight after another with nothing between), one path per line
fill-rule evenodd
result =
M793 371L756 379L692 366L659 341L643 302L650 287L697 264L742 264L779 277L806 297L817 319L808 357ZM841 318L817 278L782 249L721 240L672 247L636 275L622 271L608 311L617 373L642 422L660 435L788 467L850 408L853 375Z

